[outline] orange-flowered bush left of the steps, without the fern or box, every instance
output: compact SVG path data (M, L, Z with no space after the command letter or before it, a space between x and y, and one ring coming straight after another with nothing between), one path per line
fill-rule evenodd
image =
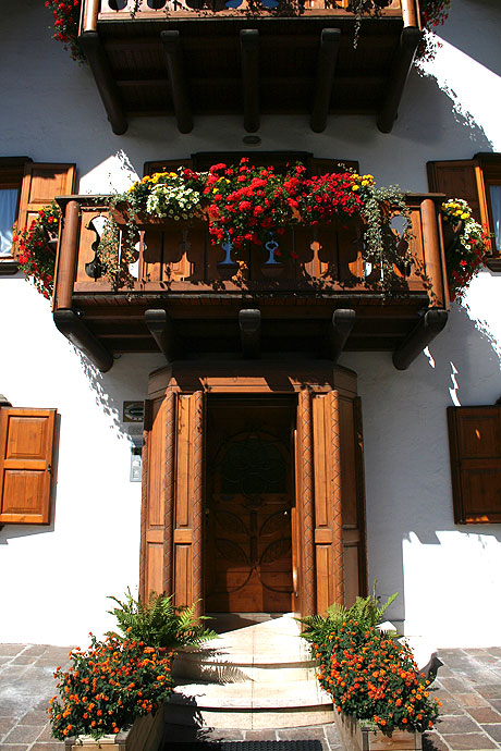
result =
M118 734L138 716L156 712L172 692L172 652L109 636L70 652L71 667L54 673L58 694L49 716L58 740Z

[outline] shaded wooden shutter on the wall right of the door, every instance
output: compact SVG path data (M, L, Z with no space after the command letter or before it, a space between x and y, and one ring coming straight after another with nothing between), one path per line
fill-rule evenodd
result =
M501 521L501 406L449 407L455 524Z

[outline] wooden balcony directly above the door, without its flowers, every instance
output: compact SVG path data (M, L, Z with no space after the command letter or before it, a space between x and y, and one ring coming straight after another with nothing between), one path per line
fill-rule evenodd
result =
M407 197L415 262L394 267L393 294L383 296L379 269L362 259L355 220L300 224L282 235L280 248L289 256L282 268L264 248L227 264L228 248L210 244L203 221L145 224L132 282L117 288L94 262L98 235L90 222L105 204L60 198L54 320L102 370L112 354L158 349L169 360L278 353L335 360L343 348L382 349L395 353L395 366L404 368L447 320L442 200L441 194Z

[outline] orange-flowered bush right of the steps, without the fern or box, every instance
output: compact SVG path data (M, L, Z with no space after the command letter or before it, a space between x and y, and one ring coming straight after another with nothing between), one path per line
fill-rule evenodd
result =
M338 712L369 721L387 736L433 726L440 702L430 699L430 681L412 650L392 635L350 618L310 647L320 662L320 685Z

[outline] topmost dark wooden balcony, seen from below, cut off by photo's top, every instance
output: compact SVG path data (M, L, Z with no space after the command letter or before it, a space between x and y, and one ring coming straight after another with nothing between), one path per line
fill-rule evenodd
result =
M261 114L291 113L316 132L329 114L376 114L387 133L420 39L417 0L364 17L356 48L349 0L325 3L288 16L246 0L84 0L80 41L117 134L130 115L173 115L188 133L197 115L242 114L252 133Z

